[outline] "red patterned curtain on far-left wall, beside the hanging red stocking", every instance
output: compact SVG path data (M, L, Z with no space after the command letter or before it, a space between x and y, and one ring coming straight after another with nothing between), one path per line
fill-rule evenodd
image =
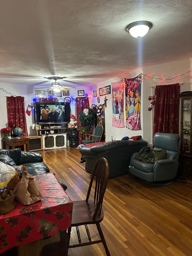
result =
M8 121L13 120L16 127L22 129L22 136L28 136L27 132L27 122L25 113L25 101L24 97L21 96L11 96L7 97L7 116Z

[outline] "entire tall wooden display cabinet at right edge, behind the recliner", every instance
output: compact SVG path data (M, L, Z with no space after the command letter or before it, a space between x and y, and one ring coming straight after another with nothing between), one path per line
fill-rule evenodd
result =
M179 96L181 105L180 137L182 142L178 175L192 180L192 92L181 93Z

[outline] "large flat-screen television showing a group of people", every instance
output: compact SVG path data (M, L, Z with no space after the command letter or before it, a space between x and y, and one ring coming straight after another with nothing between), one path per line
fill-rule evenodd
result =
M70 122L70 103L65 103L65 102L37 102L34 101L34 122L35 123L44 123L44 122L52 122L52 120L48 121L43 121L41 119L41 110L44 108L44 106L47 105L48 110L51 108L53 109L54 107L58 111L58 116L62 108L65 110L65 116L64 119L54 119L54 122ZM50 117L49 117L50 118Z

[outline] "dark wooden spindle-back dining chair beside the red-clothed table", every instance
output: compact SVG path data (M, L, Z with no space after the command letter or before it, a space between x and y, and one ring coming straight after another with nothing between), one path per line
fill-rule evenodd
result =
M97 161L93 174L91 176L87 197L86 200L73 201L73 212L72 212L72 224L71 227L76 227L77 236L79 244L69 245L70 244L70 233L71 227L68 228L68 248L86 246L90 244L103 243L106 255L110 256L110 252L107 248L107 244L103 235L103 232L100 227L100 222L103 220L104 212L102 210L103 197L107 187L109 177L109 165L107 159L101 157ZM95 180L93 186L93 181ZM94 191L93 198L90 200L90 194ZM88 224L96 224L97 230L100 235L100 240L91 240L90 233L88 230ZM78 226L85 226L85 230L88 236L88 242L81 243L81 236Z

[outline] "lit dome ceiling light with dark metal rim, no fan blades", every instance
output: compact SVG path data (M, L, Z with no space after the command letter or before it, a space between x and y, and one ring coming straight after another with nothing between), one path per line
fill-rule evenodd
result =
M127 25L126 31L133 37L141 38L147 34L152 26L150 21L136 21Z

